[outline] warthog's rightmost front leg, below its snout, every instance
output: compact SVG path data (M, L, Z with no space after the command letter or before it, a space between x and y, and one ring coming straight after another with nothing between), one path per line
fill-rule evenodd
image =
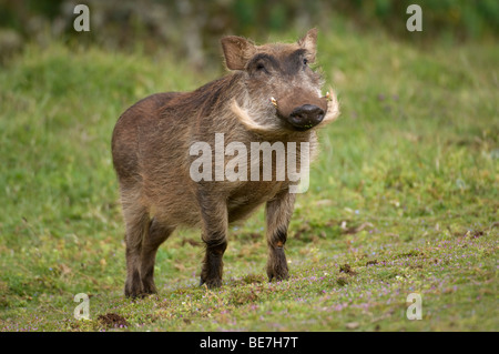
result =
M268 280L277 281L288 279L286 255L284 245L287 239L287 226L293 214L295 194L288 191L281 192L266 205L267 222L267 275Z

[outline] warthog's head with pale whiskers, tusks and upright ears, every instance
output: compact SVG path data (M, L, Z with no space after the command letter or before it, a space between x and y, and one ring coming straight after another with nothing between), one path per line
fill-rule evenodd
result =
M338 103L333 91L323 95L323 80L310 64L316 58L317 30L296 43L255 45L241 37L225 37L225 63L238 70L244 102L233 111L247 128L259 131L306 131L334 120Z

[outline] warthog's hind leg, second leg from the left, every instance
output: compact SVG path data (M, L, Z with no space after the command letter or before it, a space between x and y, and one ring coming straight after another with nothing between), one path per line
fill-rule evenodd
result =
M173 230L175 227L162 225L156 219L151 221L141 253L141 279L144 294L156 293L156 286L154 285L156 252L160 245L172 234Z

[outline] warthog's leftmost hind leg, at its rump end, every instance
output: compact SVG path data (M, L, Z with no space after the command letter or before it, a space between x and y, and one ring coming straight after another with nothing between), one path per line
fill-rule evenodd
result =
M126 283L125 295L136 297L143 293L141 281L142 241L149 233L150 218L145 208L125 204L123 208L126 223Z

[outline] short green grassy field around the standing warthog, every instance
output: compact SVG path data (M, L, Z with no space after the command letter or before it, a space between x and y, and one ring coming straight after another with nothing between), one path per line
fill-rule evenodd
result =
M266 281L261 211L231 227L222 289L197 286L203 247L182 230L159 251L159 294L138 301L123 297L113 125L222 63L52 43L2 68L0 331L497 331L497 45L344 34L319 37L342 117L297 200L291 280ZM406 316L411 293L421 321Z

